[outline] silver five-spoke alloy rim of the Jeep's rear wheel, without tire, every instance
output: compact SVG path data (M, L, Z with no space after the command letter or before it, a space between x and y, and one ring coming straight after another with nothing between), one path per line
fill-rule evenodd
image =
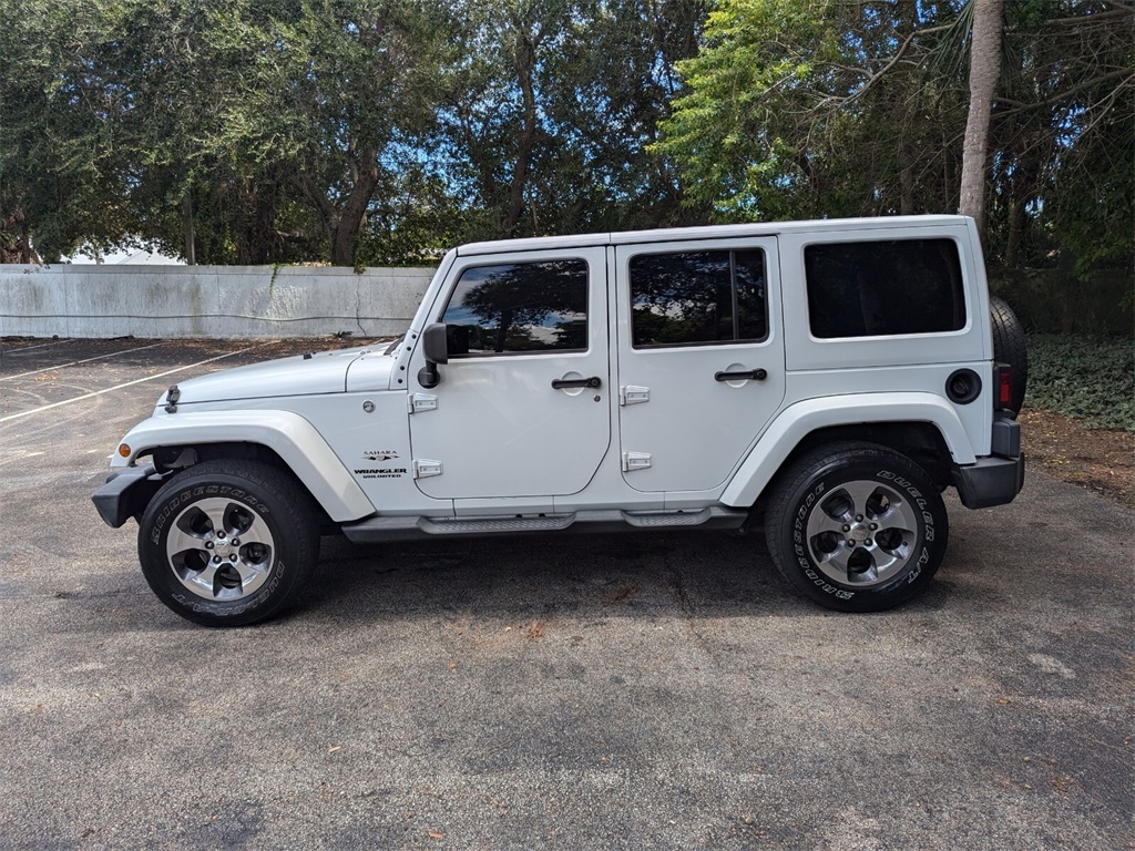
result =
M857 480L833 488L808 513L806 546L819 571L849 585L900 573L918 540L918 514L898 490Z

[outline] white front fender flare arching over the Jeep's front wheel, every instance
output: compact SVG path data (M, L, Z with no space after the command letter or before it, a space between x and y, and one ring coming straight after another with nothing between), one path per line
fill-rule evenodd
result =
M178 411L140 422L121 443L129 453L111 456L112 467L131 466L137 457L162 446L259 444L284 460L331 520L343 523L375 513L351 471L316 427L291 411Z

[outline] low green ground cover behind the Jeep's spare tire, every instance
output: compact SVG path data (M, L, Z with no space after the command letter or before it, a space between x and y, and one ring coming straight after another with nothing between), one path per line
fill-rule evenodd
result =
M1087 428L1135 432L1135 343L1069 334L1029 336L1025 404L1071 416Z

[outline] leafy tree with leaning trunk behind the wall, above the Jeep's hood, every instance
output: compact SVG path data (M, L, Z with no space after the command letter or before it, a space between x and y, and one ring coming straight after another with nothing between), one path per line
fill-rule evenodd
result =
M401 143L432 119L440 33L409 0L325 0L267 16L250 3L228 14L226 30L232 49L252 61L205 150L275 170L310 207L330 261L353 264Z

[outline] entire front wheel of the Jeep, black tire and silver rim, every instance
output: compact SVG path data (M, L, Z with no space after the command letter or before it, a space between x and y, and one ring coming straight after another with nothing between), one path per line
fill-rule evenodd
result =
M208 626L244 626L278 614L318 556L311 497L286 473L255 461L207 461L177 474L138 524L138 559L150 588L182 617Z

